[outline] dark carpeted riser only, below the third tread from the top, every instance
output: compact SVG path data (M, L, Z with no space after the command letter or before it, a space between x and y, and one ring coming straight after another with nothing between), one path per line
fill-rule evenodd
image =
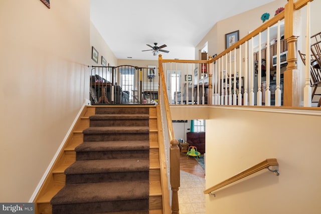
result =
M148 133L146 134L127 134L127 133L117 133L117 134L86 134L84 135L84 141L117 141L117 140L127 140L128 138L132 140L148 140Z

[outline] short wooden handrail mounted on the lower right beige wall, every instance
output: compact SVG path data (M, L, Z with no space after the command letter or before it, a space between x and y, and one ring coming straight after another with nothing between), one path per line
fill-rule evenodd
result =
M245 170L241 171L240 173L238 173L238 174L236 174L236 175L234 175L234 176L232 176L232 177L230 177L230 178L228 178L228 179L216 184L215 186L206 189L204 191L204 194L208 194L208 193L210 193L210 192L212 192L214 190L222 188L223 186L226 186L226 185L228 185L230 183L233 183L233 182L235 182L235 181L237 181L237 180L239 180L241 178L249 176L249 175L251 175L251 174L253 174L255 172L258 172L258 171L260 171L262 169L268 168L270 166L276 166L276 165L278 165L278 162L277 162L276 158L266 159L266 160L264 160L264 161L262 161L262 162L260 162L260 163L258 163L256 165L254 165L254 166L252 166L252 167L250 167L248 169L245 169Z

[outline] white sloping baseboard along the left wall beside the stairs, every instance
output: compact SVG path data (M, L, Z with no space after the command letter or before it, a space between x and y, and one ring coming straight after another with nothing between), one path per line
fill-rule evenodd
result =
M89 102L89 104L88 104L88 102ZM59 146L56 154L54 155L53 159L51 160L51 162L50 162L47 170L45 171L44 175L42 176L41 180L39 181L39 183L38 183L38 185L37 185L34 193L31 195L31 197L30 197L30 199L29 199L29 202L30 202L30 203L32 203L32 202L35 200L37 193L39 192L39 190L40 190L42 184L44 183L44 181L45 181L48 173L50 172L52 166L54 165L54 163L55 163L55 161L56 161L56 159L57 159L60 151L62 150L63 146L65 145L65 143L66 143L66 141L67 141L67 139L68 139L68 136L70 135L73 127L75 126L75 124L76 124L76 122L77 122L77 119L79 118L81 112L83 111L83 109L85 108L86 105L90 105L90 101L87 100L87 99L85 99L85 102L84 102L84 104L82 105L82 107L80 108L80 111L78 112L78 114L77 114L74 122L73 122L72 125L70 126L70 128L69 128L69 130L68 130L68 132L67 132L67 134L66 134L66 136L65 136L65 138L63 139L62 143L60 144L60 146Z

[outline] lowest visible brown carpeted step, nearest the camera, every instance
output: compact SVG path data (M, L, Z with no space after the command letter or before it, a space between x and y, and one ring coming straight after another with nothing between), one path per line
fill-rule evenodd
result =
M52 213L146 210L148 195L148 180L67 184L51 199Z

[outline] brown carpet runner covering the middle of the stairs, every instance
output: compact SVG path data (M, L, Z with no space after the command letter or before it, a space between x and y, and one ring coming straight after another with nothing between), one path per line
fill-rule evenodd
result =
M89 119L52 213L147 214L149 108L99 107Z

